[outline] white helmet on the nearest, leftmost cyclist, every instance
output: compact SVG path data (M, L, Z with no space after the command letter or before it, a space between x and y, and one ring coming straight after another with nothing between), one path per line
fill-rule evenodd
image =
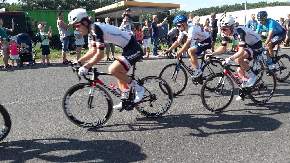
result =
M88 18L87 10L84 8L77 8L72 10L68 14L68 21L70 24L75 25L84 20L84 18Z

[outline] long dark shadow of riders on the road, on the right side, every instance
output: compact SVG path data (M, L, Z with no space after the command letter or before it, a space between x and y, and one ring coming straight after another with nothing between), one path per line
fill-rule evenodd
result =
M251 104L249 105L252 106ZM207 137L213 134L274 131L278 129L282 123L274 118L264 116L290 112L287 102L266 103L265 105L258 106L253 104L253 106L255 106L253 109L228 110L209 114L168 115L157 118L142 117L137 118L137 120L146 121L146 123L114 124L88 129L88 131L126 132L189 127L193 132L188 134L184 133L184 135L198 137ZM264 107L269 109L264 109ZM236 111L239 112L238 115L233 114ZM241 111L246 111L250 114L241 115ZM148 121L152 121L152 123Z

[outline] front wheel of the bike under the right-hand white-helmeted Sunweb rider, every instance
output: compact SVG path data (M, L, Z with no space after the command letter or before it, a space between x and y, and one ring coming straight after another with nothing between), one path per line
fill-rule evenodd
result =
M222 73L209 76L201 88L202 104L212 112L220 112L226 109L231 104L233 96L233 81Z

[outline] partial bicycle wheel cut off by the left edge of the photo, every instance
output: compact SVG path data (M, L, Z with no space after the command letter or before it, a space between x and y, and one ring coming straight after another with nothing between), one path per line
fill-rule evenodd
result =
M0 105L0 113L1 113L0 124L1 126L3 126L0 132L0 141L1 141L8 135L11 129L11 119L8 112L2 105Z

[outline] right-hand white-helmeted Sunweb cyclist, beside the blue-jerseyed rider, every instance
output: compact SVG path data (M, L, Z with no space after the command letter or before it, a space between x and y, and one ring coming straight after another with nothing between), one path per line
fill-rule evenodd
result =
M238 67L237 72L241 78L244 78L245 71L249 74L249 81L244 87L251 87L255 84L257 77L249 67L249 62L255 56L262 53L261 37L250 28L244 26L234 26L235 19L230 16L224 16L218 20L218 26L220 26L222 32L222 44L212 54L206 54L205 59L209 59L211 56L221 54L226 50L226 43L228 38L235 41L239 41L239 51L233 56L226 58L223 64L230 65L233 60L237 62L241 67ZM240 100L241 98L236 98Z

